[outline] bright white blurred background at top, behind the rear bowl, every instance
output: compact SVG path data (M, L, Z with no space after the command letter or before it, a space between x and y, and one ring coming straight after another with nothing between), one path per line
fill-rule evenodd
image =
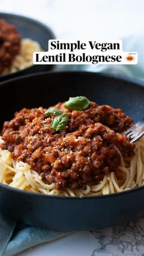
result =
M63 39L143 33L143 10L143 0L0 0L0 11L43 21Z

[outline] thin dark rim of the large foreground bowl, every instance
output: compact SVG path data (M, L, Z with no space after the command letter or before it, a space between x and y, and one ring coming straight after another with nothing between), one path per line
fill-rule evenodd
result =
M0 82L0 87L4 86L5 84L8 84L9 82L15 82L17 80L21 80L21 79L29 79L35 76L43 76L43 75L71 75L71 74L78 74L78 75L95 75L95 76L99 76L99 77L104 77L104 78L111 78L114 80L120 80L120 81L124 81L124 82L131 82L131 84L134 84L135 86L140 86L143 87L144 90L144 82L138 79L134 79L134 78L128 78L127 76L122 76L122 75L110 75L107 73L100 73L100 72L92 72L92 71L43 71L43 72L38 72L36 74L30 74L30 75L24 75L24 76L19 76L16 78L12 78L12 79L7 79L7 81L2 81ZM121 192L117 192L117 193L113 193L113 194L107 194L107 195L98 195L98 196L84 196L84 197L73 197L73 196L54 196L54 195L46 195L46 194L38 194L37 192L31 192L31 191L24 191L21 189L17 189L17 188L12 188L11 186L8 185L4 185L2 183L0 183L0 189L4 188L8 191L12 191L12 192L16 192L17 194L24 194L24 195L31 195L34 197L48 197L48 198L53 198L53 199L64 199L64 200L92 200L92 199L97 199L97 200L103 200L105 198L110 199L113 197L119 197L119 196L123 196L124 194L134 194L135 192L141 192L144 191L144 185L143 186L139 186L137 188L133 188L133 189L128 189L126 191L121 191Z

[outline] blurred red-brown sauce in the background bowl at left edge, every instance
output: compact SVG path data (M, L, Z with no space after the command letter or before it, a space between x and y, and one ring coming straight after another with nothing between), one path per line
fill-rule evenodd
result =
M9 68L16 54L20 51L21 37L16 27L0 20L0 74Z

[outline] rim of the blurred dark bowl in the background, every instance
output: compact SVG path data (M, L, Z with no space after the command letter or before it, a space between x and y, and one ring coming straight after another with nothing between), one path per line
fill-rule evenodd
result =
M34 18L30 18L29 16L25 16L25 15L19 15L19 14L16 14L16 13L0 12L0 20L5 19L5 18L1 17L1 15L5 15L5 18L6 18L6 16L8 16L8 17L13 17L13 18L22 18L23 20L29 21L29 22L31 22L31 23L35 23L35 24L37 24L38 26L44 27L44 28L47 30L47 32L49 33L49 35L51 35L51 39L52 39L52 38L56 38L56 35L55 35L54 32L52 31L52 29L49 28L49 26L47 26L45 23L43 23L43 22L41 22L41 21L35 20ZM31 38L30 38L30 39L31 39ZM48 51L48 49L46 49L46 51ZM51 65L51 64L49 64L49 65ZM20 76L21 73L23 73L23 71L29 70L29 69L31 69L32 67L34 67L34 65L32 65L31 67L24 68L23 70L18 70L18 71L14 72L14 73L9 73L9 74L7 74L7 75L1 75L0 78L6 79L6 81L7 81L7 80L9 79L9 76L10 76L10 75L17 75L17 74L18 74L18 75ZM37 73L38 73L38 72L37 72ZM23 74L22 74L22 76L23 76ZM13 79L13 78L12 78L12 79Z

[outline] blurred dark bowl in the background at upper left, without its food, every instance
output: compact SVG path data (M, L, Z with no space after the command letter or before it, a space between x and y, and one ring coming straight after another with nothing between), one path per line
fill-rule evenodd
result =
M49 27L31 18L10 13L0 13L0 20L1 19L7 21L9 24L15 25L22 38L31 38L40 43L44 51L48 51L48 40L55 38ZM52 70L52 67L54 67L54 65L33 65L32 67L9 75L0 75L0 82L38 71L49 71Z

